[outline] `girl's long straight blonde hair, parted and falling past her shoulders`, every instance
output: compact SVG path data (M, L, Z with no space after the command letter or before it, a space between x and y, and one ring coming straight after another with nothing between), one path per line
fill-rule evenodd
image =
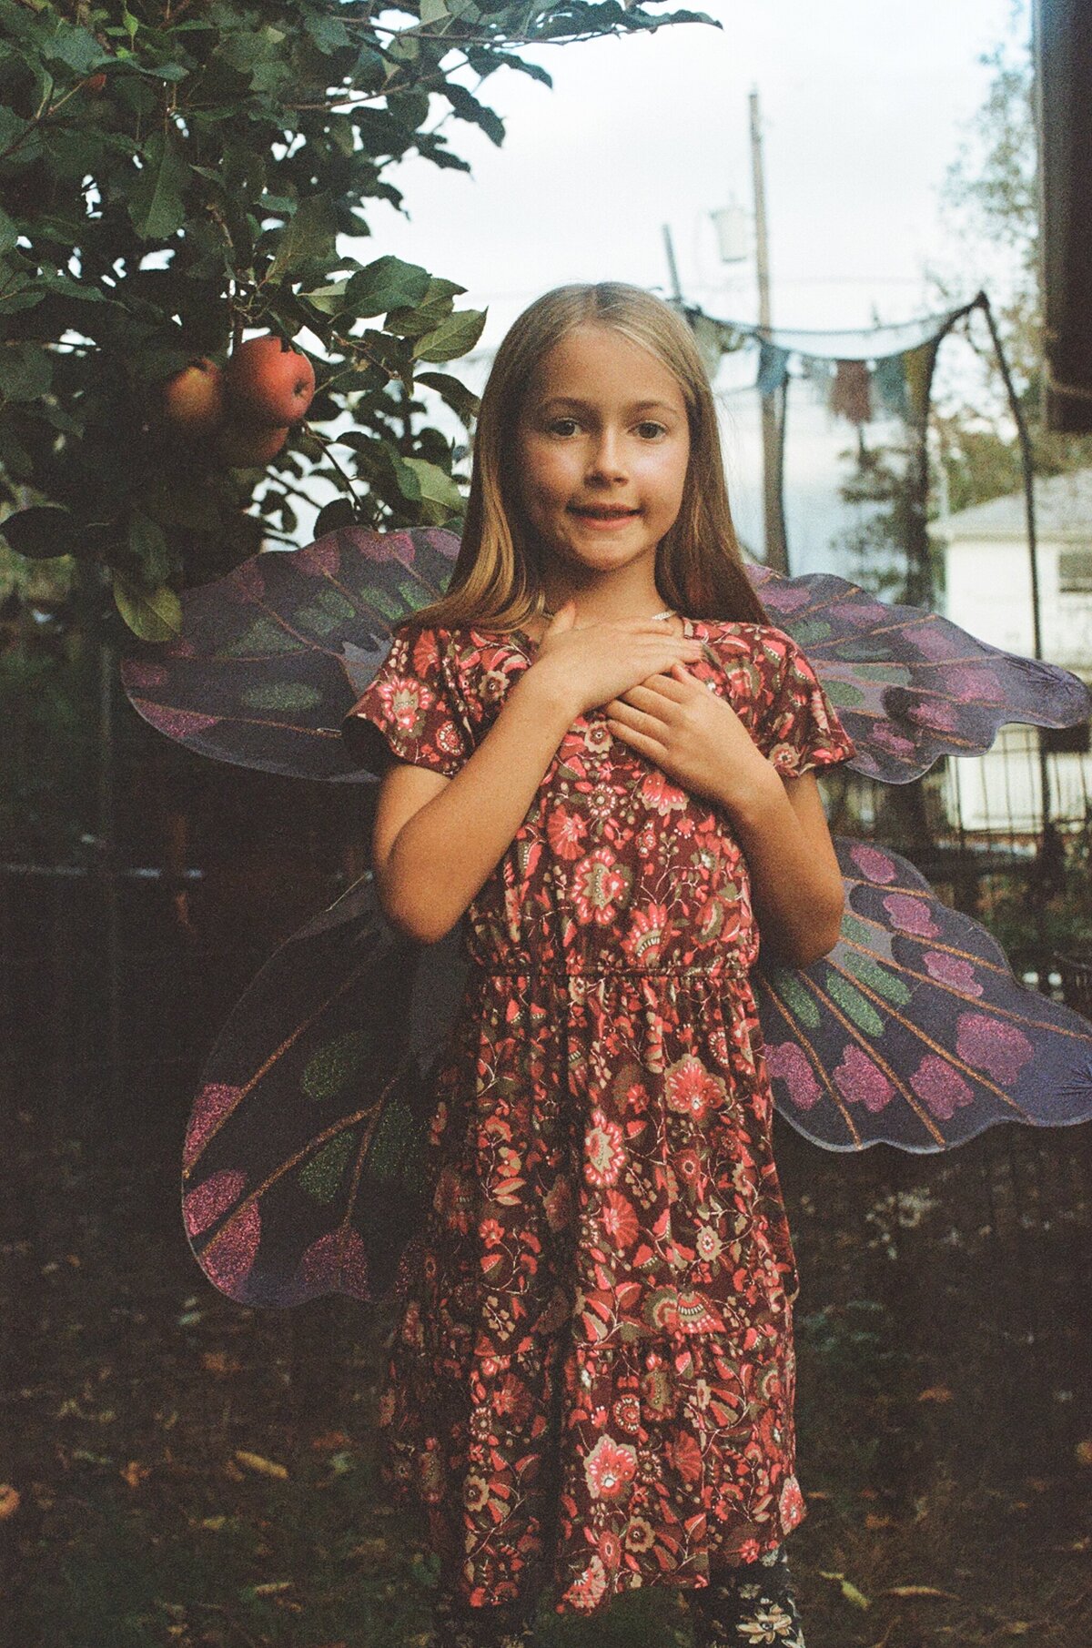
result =
M501 343L481 397L466 522L446 593L413 625L506 631L545 610L516 488L516 427L539 361L575 326L608 326L647 349L679 384L690 427L682 506L656 552L660 600L690 618L769 623L740 554L708 374L685 320L641 287L604 280L555 287Z

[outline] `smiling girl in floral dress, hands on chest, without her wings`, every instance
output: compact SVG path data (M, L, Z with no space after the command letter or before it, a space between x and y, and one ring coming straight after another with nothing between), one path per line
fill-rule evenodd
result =
M380 1394L443 1648L685 1587L802 1648L784 1559L797 1274L748 979L807 966L853 755L746 578L708 379L639 288L545 293L486 386L446 595L346 722L390 921L468 915L436 1192ZM394 758L392 758L394 756Z

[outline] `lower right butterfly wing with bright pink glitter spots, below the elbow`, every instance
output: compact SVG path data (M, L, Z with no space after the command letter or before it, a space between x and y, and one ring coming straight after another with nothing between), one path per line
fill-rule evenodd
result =
M842 938L754 974L774 1103L827 1150L942 1150L1092 1117L1092 1023L1013 977L983 926L886 847L837 837Z

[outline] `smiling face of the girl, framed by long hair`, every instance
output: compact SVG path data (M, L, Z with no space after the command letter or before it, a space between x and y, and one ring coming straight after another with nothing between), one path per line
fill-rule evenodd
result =
M647 349L585 325L539 363L517 422L517 485L524 519L563 565L654 564L688 458L682 391Z

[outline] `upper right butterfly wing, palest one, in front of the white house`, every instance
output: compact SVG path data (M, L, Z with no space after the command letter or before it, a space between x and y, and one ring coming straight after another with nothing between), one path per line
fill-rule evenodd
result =
M1077 676L975 641L937 613L889 606L827 572L748 575L856 745L847 765L884 784L921 778L942 755L980 755L1005 722L1076 727L1092 715Z

